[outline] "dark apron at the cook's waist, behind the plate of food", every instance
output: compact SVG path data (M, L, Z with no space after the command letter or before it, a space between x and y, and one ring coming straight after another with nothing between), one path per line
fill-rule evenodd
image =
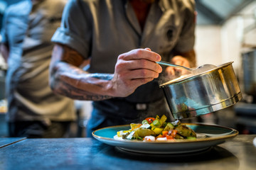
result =
M142 102L143 98L146 102ZM94 101L92 106L92 115L87 124L87 137L92 137L92 132L99 128L141 123L147 117L163 114L170 118L171 115L162 89L154 82L140 86L127 98Z

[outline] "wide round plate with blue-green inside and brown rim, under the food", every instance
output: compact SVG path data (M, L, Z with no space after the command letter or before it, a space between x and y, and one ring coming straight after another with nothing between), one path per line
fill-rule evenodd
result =
M219 125L185 123L198 135L196 140L174 140L161 142L143 142L139 140L115 140L119 130L129 130L129 125L118 125L102 128L92 132L93 137L107 145L118 147L129 152L144 154L183 154L200 152L219 145L238 135L238 130Z

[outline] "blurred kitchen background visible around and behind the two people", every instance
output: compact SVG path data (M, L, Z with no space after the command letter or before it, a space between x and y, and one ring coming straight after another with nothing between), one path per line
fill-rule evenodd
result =
M17 1L0 0L0 27L5 8ZM235 106L198 119L203 123L235 128L241 134L256 134L256 0L195 1L197 64L218 65L233 61L243 97ZM6 69L6 63L0 56L0 136L6 136ZM92 108L90 101L75 103L79 118L73 125L71 136L84 137Z

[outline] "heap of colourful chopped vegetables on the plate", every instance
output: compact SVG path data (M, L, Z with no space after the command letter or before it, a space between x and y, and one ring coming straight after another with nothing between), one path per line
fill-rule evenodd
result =
M119 130L116 140L164 141L178 139L196 139L196 132L180 120L166 122L166 115L156 118L145 118L142 123L131 123L130 129Z

